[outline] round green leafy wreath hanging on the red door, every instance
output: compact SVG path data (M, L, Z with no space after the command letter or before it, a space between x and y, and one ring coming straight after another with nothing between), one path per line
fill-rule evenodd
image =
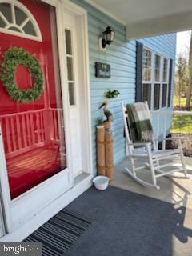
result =
M44 89L44 78L37 58L18 47L6 50L2 57L4 62L2 62L0 78L10 97L21 103L33 102L40 98ZM34 84L29 89L18 89L18 84L15 82L15 71L18 65L26 66L34 78Z

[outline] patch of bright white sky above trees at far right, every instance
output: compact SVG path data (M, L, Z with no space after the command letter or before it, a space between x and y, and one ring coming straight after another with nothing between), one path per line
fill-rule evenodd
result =
M176 55L184 54L188 59L190 49L190 31L183 31L177 33L177 49Z

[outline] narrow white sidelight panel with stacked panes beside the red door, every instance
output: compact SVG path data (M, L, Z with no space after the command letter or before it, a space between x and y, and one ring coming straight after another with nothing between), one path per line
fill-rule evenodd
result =
M70 146L74 177L82 173L81 113L78 82L78 34L77 18L64 12L64 33L66 38L67 86L70 114Z

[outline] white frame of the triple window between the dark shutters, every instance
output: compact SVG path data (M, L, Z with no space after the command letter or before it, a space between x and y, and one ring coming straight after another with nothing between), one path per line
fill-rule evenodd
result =
M163 54L159 53L158 51L151 50L150 48L144 46L144 50L149 50L151 53L151 76L150 80L142 80L143 84L150 84L151 85L151 91L150 91L150 110L154 110L154 85L159 84L160 85L160 94L159 94L159 109L155 111L159 111L162 109L165 109L168 107L168 94L169 94L169 76L170 76L170 58L167 58ZM158 55L160 57L160 80L155 81L155 55ZM167 74L166 74L166 82L163 82L163 62L164 59L167 60ZM167 85L167 92L166 92L166 106L162 106L162 86L163 84ZM142 88L143 89L143 88Z

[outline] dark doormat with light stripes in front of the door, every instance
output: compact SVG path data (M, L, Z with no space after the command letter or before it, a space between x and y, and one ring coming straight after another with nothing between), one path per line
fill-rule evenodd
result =
M42 242L42 256L61 256L92 221L92 218L66 207L23 242Z

